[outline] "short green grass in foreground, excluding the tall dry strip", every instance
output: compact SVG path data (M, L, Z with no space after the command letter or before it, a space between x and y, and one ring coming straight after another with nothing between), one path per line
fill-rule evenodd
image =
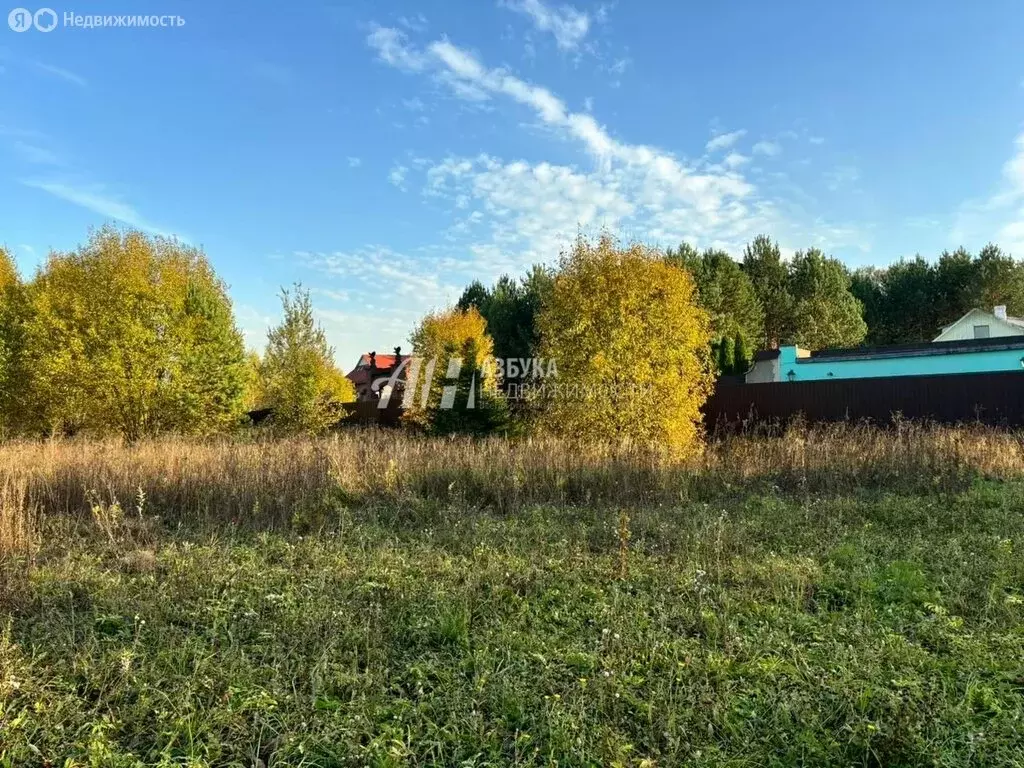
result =
M324 510L49 521L0 766L1024 765L1024 484Z

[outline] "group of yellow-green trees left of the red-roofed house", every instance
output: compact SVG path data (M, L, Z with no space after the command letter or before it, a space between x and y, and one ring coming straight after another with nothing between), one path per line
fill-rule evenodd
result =
M308 292L282 298L263 355L247 354L226 288L196 248L104 227L29 281L0 249L0 433L212 434L260 407L282 427L337 420L352 385Z

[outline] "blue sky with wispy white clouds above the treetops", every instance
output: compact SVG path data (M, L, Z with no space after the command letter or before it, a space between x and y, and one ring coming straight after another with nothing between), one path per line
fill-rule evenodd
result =
M50 7L185 25L0 27L0 243L31 273L106 221L175 233L257 348L296 281L343 368L408 346L578 227L1024 257L1019 0Z

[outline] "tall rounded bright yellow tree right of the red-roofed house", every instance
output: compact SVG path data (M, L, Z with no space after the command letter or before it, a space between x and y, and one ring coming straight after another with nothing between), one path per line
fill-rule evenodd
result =
M562 254L539 327L558 372L541 391L540 428L677 456L698 447L711 327L689 272L643 245L581 238Z

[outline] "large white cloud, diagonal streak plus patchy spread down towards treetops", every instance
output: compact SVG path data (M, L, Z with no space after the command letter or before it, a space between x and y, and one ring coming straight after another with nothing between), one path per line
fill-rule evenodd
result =
M607 227L627 238L662 245L687 240L732 253L739 253L760 231L800 247L857 240L855 228L831 222L814 221L811 231L788 225L786 206L763 199L741 173L750 158L728 152L744 135L742 131L729 138L713 137L712 142L718 139L713 148L726 151L720 164L707 159L689 161L612 135L589 114L593 102L585 102L584 112L571 112L547 88L507 69L489 68L447 39L419 46L392 32L368 39L382 60L429 77L457 98L490 101L496 108L504 100L513 109L525 109L553 136L574 144L592 161L555 164L481 154L450 156L429 164L408 162L408 169L399 166L397 181L403 188L420 188L424 204L437 217L445 217L442 243L424 249L415 259L394 254L384 259L397 272L393 290L408 297L403 307L414 315L410 325L431 305L458 297L459 289L447 291L436 275L461 286L473 279L516 273L531 263L550 263L581 229L596 232ZM389 41L386 57L380 53L382 40ZM395 41L400 49L395 48ZM804 220L810 218L801 215ZM815 240L815 230L826 242ZM344 274L347 281L356 267L332 260L322 261L319 268ZM373 279L375 283L392 280L381 269L373 272ZM353 301L359 300L357 292L352 296Z

